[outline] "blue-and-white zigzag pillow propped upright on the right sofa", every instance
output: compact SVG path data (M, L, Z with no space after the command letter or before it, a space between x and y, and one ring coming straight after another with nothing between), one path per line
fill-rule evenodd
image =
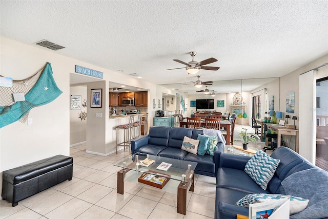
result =
M280 160L270 157L268 154L259 150L247 162L244 171L264 190L273 177Z

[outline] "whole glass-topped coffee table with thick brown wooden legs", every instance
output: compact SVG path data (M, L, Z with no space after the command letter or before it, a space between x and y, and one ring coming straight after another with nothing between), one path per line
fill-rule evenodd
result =
M140 164L146 158L153 160L150 166L145 167ZM156 169L162 162L172 164L167 171ZM124 194L124 182L130 181L142 185L146 174L152 174L157 178L165 178L165 185L161 188L170 193L177 193L177 212L185 214L187 212L187 191L194 191L194 170L196 162L177 160L169 157L155 156L144 153L135 153L129 158L120 161L114 166L121 167L117 172L117 193ZM153 186L155 186L153 184ZM157 185L156 185L157 187ZM155 188L155 187L153 187ZM159 187L157 187L159 188Z

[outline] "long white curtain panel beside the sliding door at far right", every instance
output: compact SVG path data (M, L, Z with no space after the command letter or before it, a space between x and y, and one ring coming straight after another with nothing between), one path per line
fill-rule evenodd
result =
M299 154L316 161L316 70L299 76Z

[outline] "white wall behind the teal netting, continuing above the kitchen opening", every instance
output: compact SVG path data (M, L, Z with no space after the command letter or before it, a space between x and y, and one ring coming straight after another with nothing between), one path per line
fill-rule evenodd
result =
M104 72L106 85L103 90L103 109L105 110L103 120L105 127L109 124L109 81L145 88L150 91L148 92L149 100L156 98L155 84L59 55L56 51L22 44L5 37L0 38L0 47L1 75L13 79L24 79L49 62L55 82L63 91L53 102L30 111L29 118L33 118L33 125L27 126L27 124L15 122L0 129L0 172L57 154L69 155L70 73L75 72L75 65ZM90 90L87 95L90 94L89 92ZM92 112L89 111L88 108L88 122L90 118L93 118ZM152 104L149 104L148 113L149 123L153 125ZM106 135L111 134L109 130L104 132ZM104 145L101 147L106 148L105 140L103 142ZM2 174L0 177L1 187Z

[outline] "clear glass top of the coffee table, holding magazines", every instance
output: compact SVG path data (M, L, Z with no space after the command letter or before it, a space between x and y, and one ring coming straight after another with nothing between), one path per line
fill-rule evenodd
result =
M136 162L136 157L138 162ZM145 167L145 166L141 166L139 163L142 160L145 160L146 158L150 159L150 160L154 160L155 162L152 163L149 167ZM167 171L163 171L163 170L157 170L156 168L162 163L169 163L172 164L172 166L167 170ZM178 160L178 159L173 159L173 158L169 158L169 157L162 157L162 156L155 156L155 155L150 155L150 154L145 154L145 153L135 153L131 156L129 156L128 158L126 158L125 160L122 160L116 164L114 164L114 166L117 167L121 167L121 168L126 168L128 170L133 170L133 171L137 171L137 172L147 172L147 171L152 171L152 172L158 172L160 175L162 174L169 174L170 178L173 180L177 180L182 182L182 174L186 175L186 180L188 181L190 176L187 175L186 173L189 166L190 165L190 170L195 170L197 163L196 162L191 162L191 161L184 161L184 160Z

